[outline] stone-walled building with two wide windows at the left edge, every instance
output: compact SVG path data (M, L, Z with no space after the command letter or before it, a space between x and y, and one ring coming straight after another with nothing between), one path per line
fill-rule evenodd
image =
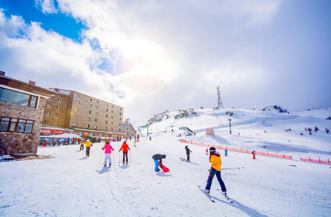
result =
M0 155L36 154L46 99L52 92L0 71Z

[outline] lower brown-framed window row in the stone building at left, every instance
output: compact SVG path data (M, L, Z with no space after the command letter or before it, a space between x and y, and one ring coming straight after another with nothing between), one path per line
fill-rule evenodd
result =
M0 117L0 131L16 133L32 133L33 121L16 119L10 117Z

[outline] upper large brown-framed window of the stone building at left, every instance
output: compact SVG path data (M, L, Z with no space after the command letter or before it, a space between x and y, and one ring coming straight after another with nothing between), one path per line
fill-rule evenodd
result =
M0 88L0 102L36 108L37 100L36 96Z

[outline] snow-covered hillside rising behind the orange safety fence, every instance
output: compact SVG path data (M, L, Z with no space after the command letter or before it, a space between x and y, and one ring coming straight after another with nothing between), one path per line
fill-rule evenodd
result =
M331 129L331 120L325 118L330 115L330 108L293 113L243 108L195 109L157 115L155 119L158 121L149 126L149 133L152 137L175 137L179 133L184 136L184 132L178 128L188 127L196 132L196 136L184 137L189 141L283 152L297 158L311 156L328 159L331 158L331 134L327 134L325 128ZM229 134L228 119L231 119L232 134ZM305 128L313 129L315 126L319 130L309 135ZM214 128L214 136L205 135L209 127ZM142 133L146 135L147 129L142 130Z

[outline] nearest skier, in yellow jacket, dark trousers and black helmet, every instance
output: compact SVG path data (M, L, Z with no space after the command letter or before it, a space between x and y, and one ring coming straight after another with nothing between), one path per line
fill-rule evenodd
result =
M210 168L207 185L204 191L206 192L207 195L209 195L214 175L216 175L219 185L221 186L222 194L225 197L227 197L226 188L221 178L221 162L222 162L221 156L219 152L216 152L216 149L214 147L211 147L209 151L210 151L209 162L212 163L212 167Z

